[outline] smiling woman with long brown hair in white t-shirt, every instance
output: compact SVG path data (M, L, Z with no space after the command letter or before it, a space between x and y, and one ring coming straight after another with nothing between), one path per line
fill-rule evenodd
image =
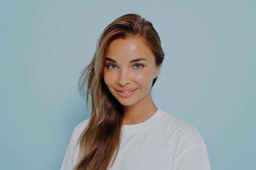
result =
M157 32L138 15L104 30L78 82L91 118L74 129L61 170L210 169L197 129L153 103L163 58Z

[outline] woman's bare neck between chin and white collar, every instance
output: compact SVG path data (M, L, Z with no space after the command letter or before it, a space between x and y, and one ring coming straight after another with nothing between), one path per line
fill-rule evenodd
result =
M131 106L124 106L123 124L138 124L146 121L157 111L151 93Z

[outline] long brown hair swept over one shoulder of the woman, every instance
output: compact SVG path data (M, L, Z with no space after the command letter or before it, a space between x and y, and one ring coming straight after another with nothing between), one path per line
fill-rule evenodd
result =
M164 53L157 32L139 15L124 15L103 31L92 62L84 68L78 81L78 90L83 97L86 96L91 117L77 141L80 151L75 170L104 170L115 161L120 145L123 106L104 82L105 55L111 41L132 36L140 36L145 41L155 56L157 66L163 61ZM155 81L156 78L152 86Z

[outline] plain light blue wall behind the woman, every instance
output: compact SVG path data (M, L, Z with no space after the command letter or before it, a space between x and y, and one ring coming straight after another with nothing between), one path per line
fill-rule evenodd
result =
M161 38L155 104L198 128L212 169L254 169L255 9L227 0L1 0L1 169L60 168L74 127L89 118L79 73L104 28L127 13Z

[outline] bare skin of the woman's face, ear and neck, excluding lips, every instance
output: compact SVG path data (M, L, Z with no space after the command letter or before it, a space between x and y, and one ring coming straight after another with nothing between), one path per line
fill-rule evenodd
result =
M161 65L155 64L153 53L140 37L118 38L109 44L104 81L124 106L123 124L144 122L157 111L151 97L151 86L160 69ZM132 96L123 97L117 91L123 88L136 90Z

